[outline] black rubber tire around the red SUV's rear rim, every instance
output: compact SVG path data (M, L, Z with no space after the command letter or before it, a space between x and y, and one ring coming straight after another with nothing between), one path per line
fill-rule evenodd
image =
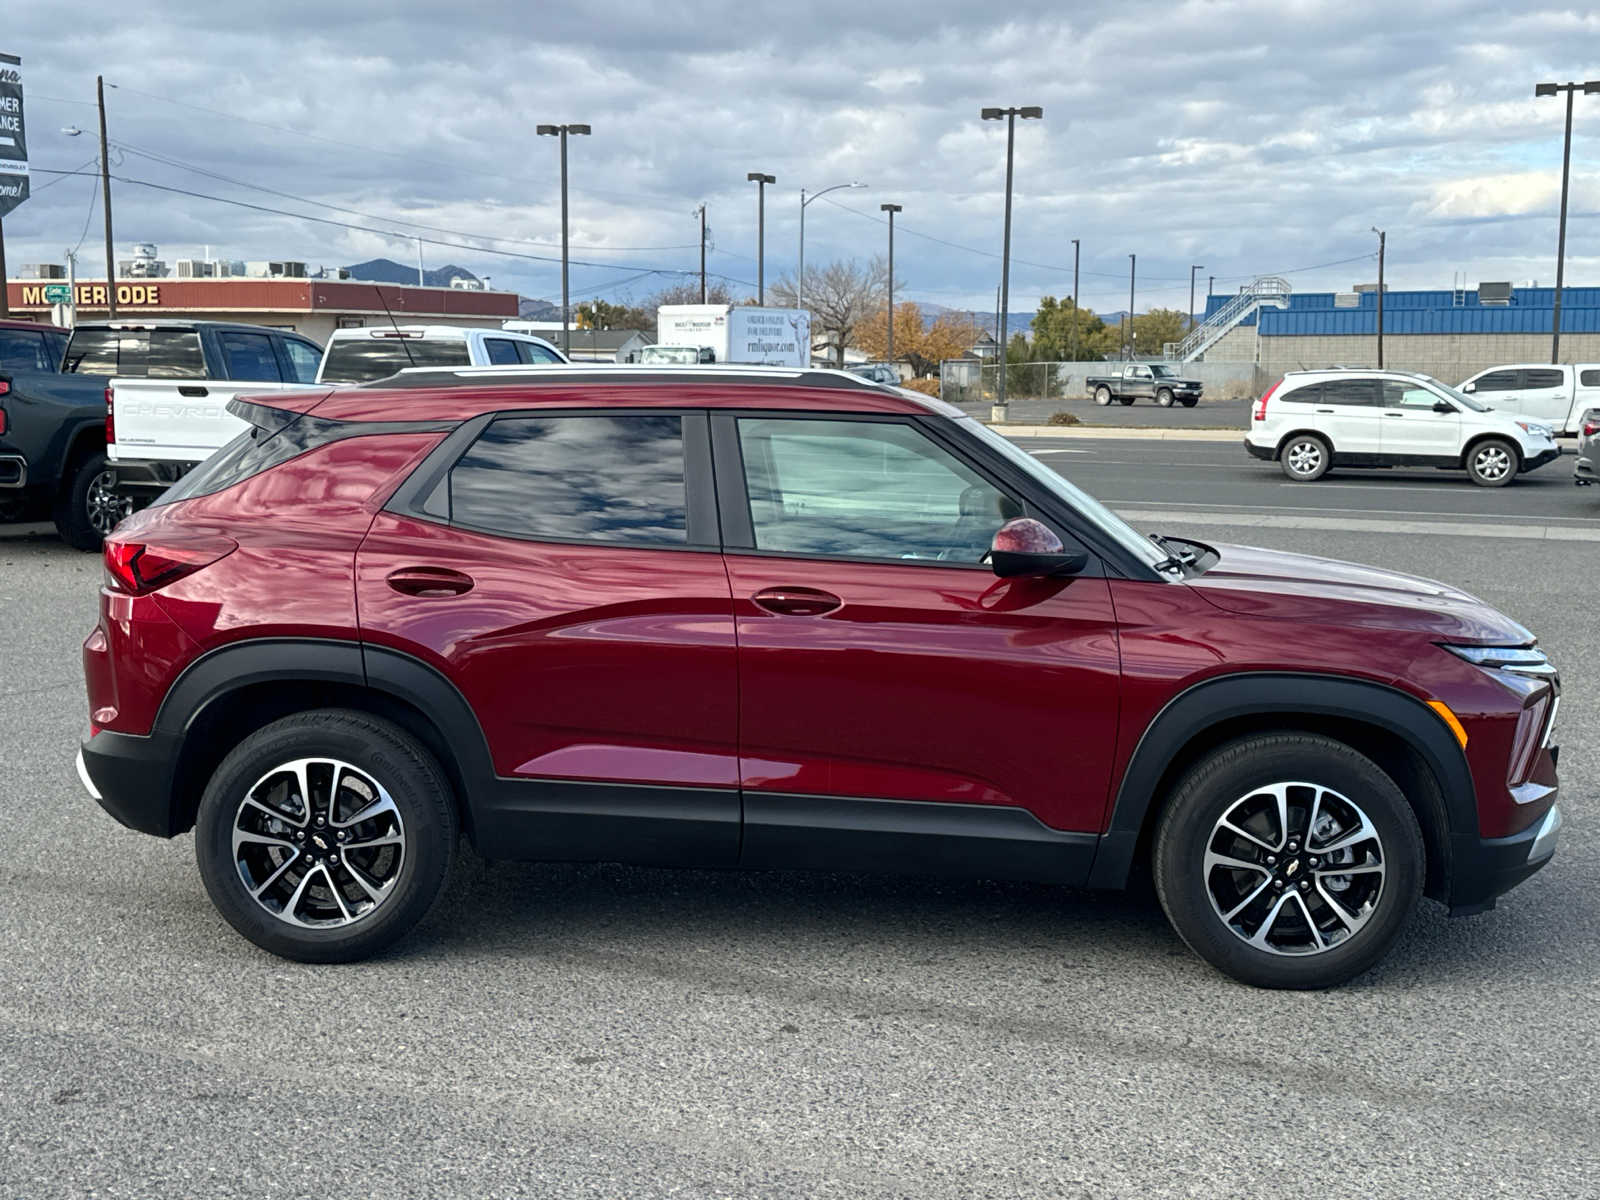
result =
M286 851L277 846L259 851L282 856L277 862L282 864L278 872L283 875L283 883L264 888L269 901L278 902L280 910L288 909L288 902L282 899L283 891L296 886L296 880L302 880L306 886L301 888L301 906L320 904L323 912L330 912L328 906L336 902L338 909L331 910L330 915L344 914L350 906L366 904L366 896L371 894L368 891L363 896L363 888L358 886L352 870L352 864L357 864L357 853L368 854L360 864L363 878L382 882L384 864L387 864L387 890L371 902L366 912L360 912L357 907L357 914L347 923L307 928L290 923L282 915L274 915L262 902L251 898L250 886L242 877L240 862L235 859L234 829L235 819L259 821L256 806L245 803L251 789L256 789L258 797L266 797L270 802L272 794L262 792L258 781L272 778L275 768L285 763L317 757L355 768L352 774L357 786L365 787L363 774L370 776L371 782L378 782L394 800L403 843L400 850L394 851L394 858L387 859L382 858L386 848L357 851L354 850L355 840L344 846L334 845L330 834L341 824L338 821L339 797L334 797L334 808L328 813L328 819L325 822L315 821L315 810L322 805L318 778L307 776L307 790L312 792L314 803L302 806L304 821L299 824L304 827L296 829L288 819L278 821ZM291 771L285 773L290 778L291 774ZM352 776L344 778L350 779ZM370 787L366 790L371 792ZM355 805L352 805L349 802L350 792L341 792L341 795L346 797L346 827L357 838L382 837L386 832L394 835L394 826L350 821L349 818L354 816L350 808L363 803L365 798L355 792ZM310 811L304 811L304 808ZM272 811L285 810L275 806ZM373 819L373 822L378 821L384 821L384 818ZM342 834L346 829L339 829L339 832ZM302 963L354 962L394 944L427 915L450 874L456 835L458 818L450 782L427 749L379 717L344 709L320 709L275 720L245 738L229 752L221 766L216 768L200 800L195 821L195 861L200 866L205 890L218 912L261 949ZM323 837L328 837L326 845L312 845ZM302 845L290 845L291 838ZM339 851L344 854L342 862ZM301 870L299 864L307 861L310 867ZM246 869L251 869L254 875L269 874L274 869L274 861L266 861L259 870L254 869L254 864L246 864ZM325 874L318 875L318 870ZM342 880L339 896L334 896L333 890L326 886L326 880L334 877ZM293 909L296 915L306 912L301 906Z

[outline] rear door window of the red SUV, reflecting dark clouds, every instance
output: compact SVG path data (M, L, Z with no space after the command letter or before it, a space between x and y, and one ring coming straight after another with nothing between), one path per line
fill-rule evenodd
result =
M451 469L450 520L534 541L683 546L683 418L501 418Z

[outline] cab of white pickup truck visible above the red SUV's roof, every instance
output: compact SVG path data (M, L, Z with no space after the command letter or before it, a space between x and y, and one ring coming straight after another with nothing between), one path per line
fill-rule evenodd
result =
M515 366L565 363L544 338L462 325L334 330L317 371L320 384L363 384L408 366ZM237 430L235 430L237 432Z

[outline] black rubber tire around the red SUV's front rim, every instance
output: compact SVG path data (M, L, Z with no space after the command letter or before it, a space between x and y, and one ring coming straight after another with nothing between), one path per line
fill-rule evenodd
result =
M1243 811L1242 805L1258 800L1272 803L1269 789L1274 786L1285 789L1290 821L1282 835L1266 832L1264 837L1269 842L1277 837L1282 858L1270 859L1275 864L1272 870L1264 866L1251 870L1213 866L1208 880L1205 859L1216 838L1227 843L1230 853L1243 846L1237 853L1258 853L1262 861L1269 861L1266 851L1253 851L1251 842L1234 838L1219 822L1224 816ZM1326 790L1314 792L1309 786ZM1358 805L1354 811L1357 818L1365 814L1366 824L1355 827L1373 834L1362 840L1360 853L1374 853L1382 864L1381 872L1341 877L1330 870L1331 859L1312 856L1314 845L1288 840L1296 837L1296 819L1309 819L1312 797L1320 811L1326 813L1352 811L1341 808L1341 802L1354 800ZM1272 824L1269 821L1266 827L1256 829L1270 830ZM1330 846L1338 845L1349 824L1354 822L1344 822L1341 832L1330 835ZM1298 848L1299 853L1288 854L1283 848ZM1349 853L1354 862L1355 851ZM1422 894L1422 832L1416 813L1394 779L1344 742L1309 733L1256 734L1219 747L1184 774L1157 826L1152 867L1155 891L1178 936L1224 974L1254 987L1333 987L1382 958L1410 920ZM1258 885L1256 880L1262 882ZM1346 891L1349 888L1355 890ZM1227 891L1226 899L1219 901L1214 890ZM1253 904L1264 907L1243 910L1238 926L1245 931L1224 920L1222 904L1232 912L1240 893L1253 894L1258 890L1261 901ZM1293 893L1304 898L1304 902ZM1360 923L1352 926L1326 902L1328 896L1341 894L1365 910ZM1363 896L1365 899L1354 899ZM1296 904L1291 906L1291 899ZM1275 909L1283 910L1277 923L1259 917L1264 910ZM1318 920L1328 922L1331 931L1312 933L1306 917L1314 912ZM1310 952L1282 952L1251 944L1246 931L1258 920L1270 925L1269 934L1280 933L1290 944L1299 938L1299 944L1310 947ZM1256 934L1261 934L1261 928ZM1312 938L1318 941L1312 942ZM1323 941L1326 949L1315 949Z

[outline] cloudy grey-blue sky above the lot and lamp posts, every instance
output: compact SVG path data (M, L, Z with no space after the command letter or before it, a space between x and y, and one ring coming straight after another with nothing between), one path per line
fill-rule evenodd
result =
M1554 282L1562 102L1533 86L1600 78L1600 10L56 0L10 5L0 50L22 56L35 171L5 221L13 275L80 240L101 270L94 181L48 170L93 168L104 74L112 173L144 181L114 184L123 256L411 262L421 234L429 266L558 296L557 147L534 125L587 122L573 293L608 299L696 267L701 202L710 270L754 291L746 173L766 171L768 280L794 267L800 189L859 179L806 210L808 262L882 253L878 205L901 203L901 294L987 310L1005 128L978 110L1040 104L1016 134L1011 307L1070 294L1080 238L1083 302L1123 307L1136 253L1142 310L1184 307L1190 264L1202 291L1374 278L1371 226L1394 286ZM1600 98L1576 107L1566 277L1600 283Z

